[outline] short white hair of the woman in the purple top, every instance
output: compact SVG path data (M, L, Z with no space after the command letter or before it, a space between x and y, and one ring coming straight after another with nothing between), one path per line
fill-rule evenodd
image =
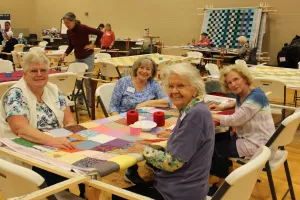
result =
M205 85L202 80L202 76L196 67L189 63L177 63L171 66L165 67L163 69L164 81L163 85L165 90L168 87L168 77L170 74L178 74L179 76L184 76L188 79L190 84L197 89L198 96L205 95Z

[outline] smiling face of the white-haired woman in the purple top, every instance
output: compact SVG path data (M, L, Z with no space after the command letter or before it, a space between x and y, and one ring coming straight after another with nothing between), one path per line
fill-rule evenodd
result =
M198 94L188 79L175 73L168 78L168 95L178 110L187 106Z

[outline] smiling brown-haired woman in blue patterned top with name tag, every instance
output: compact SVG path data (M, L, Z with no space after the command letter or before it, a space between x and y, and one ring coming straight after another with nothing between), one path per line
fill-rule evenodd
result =
M132 67L132 76L121 78L110 102L111 115L140 107L169 107L170 100L153 78L157 73L154 61L143 56Z

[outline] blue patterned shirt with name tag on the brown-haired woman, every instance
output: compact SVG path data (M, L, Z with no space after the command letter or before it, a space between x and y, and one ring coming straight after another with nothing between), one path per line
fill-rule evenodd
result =
M170 99L163 93L157 81L148 81L143 91L139 92L134 88L131 76L126 76L121 78L114 88L109 111L110 113L127 112L135 109L139 103L154 99L166 99L171 105Z

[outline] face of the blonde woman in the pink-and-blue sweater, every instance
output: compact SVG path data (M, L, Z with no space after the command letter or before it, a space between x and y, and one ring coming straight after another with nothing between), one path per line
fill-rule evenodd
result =
M229 90L236 95L239 95L249 89L247 81L235 71L231 71L227 74L225 82Z

